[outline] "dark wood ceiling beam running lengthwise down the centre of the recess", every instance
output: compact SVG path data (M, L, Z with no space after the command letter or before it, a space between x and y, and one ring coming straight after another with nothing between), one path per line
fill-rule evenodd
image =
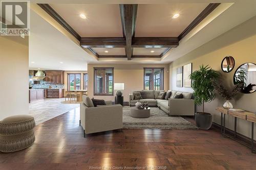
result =
M120 4L123 35L126 39L125 54L127 60L131 60L133 55L132 39L135 35L137 7L137 4Z

